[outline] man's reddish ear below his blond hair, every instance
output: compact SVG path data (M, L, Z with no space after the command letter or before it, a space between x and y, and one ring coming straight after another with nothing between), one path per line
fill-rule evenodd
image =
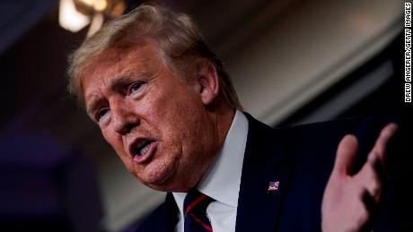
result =
M219 92L219 76L215 66L203 62L197 67L198 93L204 105L210 105Z

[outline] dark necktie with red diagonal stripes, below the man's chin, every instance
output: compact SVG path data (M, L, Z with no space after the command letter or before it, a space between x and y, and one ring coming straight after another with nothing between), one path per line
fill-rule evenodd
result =
M198 190L189 190L183 209L185 211L185 232L205 232L212 231L211 222L206 217L206 207L210 202L215 201Z

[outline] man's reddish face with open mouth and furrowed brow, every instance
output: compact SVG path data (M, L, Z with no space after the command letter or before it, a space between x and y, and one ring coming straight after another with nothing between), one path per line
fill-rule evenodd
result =
M108 48L81 77L86 110L127 170L161 191L187 191L219 150L198 82L184 82L154 43Z

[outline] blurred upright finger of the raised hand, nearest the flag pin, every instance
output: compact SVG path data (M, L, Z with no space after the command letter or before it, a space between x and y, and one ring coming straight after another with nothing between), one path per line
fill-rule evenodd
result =
M356 136L347 134L338 144L333 173L349 175L358 149Z

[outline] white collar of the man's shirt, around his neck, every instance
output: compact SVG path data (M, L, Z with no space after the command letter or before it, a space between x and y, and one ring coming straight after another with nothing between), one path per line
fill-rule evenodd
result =
M201 178L198 191L236 208L240 192L242 162L248 134L247 117L237 110L224 146ZM180 211L187 193L173 193Z

